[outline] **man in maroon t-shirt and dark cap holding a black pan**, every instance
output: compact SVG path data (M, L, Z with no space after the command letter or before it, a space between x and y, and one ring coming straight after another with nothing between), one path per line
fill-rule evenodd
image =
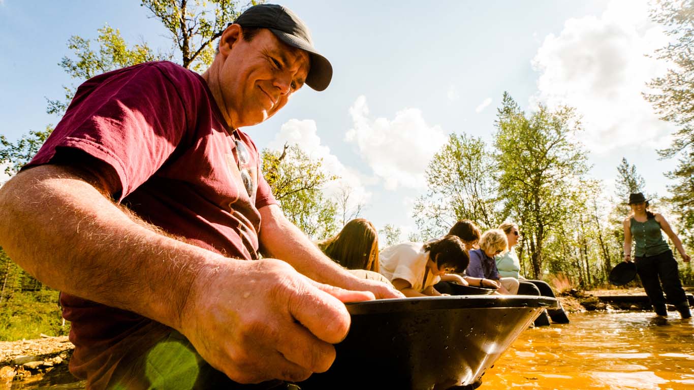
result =
M301 19L264 4L226 28L202 76L149 62L79 87L1 189L0 243L62 291L70 369L88 387L304 380L335 359L342 302L400 296L282 215L239 130L331 77Z

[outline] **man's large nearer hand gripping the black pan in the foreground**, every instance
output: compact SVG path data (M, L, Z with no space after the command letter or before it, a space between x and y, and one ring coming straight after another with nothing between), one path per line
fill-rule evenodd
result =
M350 327L343 302L373 294L322 285L280 260L228 260L199 275L180 331L241 383L301 381L326 371Z

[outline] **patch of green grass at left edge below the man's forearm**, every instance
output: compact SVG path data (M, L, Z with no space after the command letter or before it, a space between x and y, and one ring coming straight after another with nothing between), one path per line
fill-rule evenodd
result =
M62 325L58 291L17 291L0 305L0 341L63 336L69 330L69 323Z

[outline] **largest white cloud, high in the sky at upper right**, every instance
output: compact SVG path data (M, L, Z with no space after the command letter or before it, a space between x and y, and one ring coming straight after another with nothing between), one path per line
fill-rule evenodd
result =
M540 101L570 105L582 115L584 143L593 151L647 144L661 147L672 130L643 99L645 83L666 64L645 56L667 42L645 1L613 0L600 17L568 19L548 35L533 60Z

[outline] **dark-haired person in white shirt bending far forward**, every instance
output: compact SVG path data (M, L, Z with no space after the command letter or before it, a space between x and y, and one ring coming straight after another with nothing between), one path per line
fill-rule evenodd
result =
M405 242L380 253L380 272L405 296L440 296L441 275L459 273L470 259L463 242L448 235L426 244Z

